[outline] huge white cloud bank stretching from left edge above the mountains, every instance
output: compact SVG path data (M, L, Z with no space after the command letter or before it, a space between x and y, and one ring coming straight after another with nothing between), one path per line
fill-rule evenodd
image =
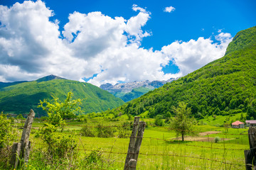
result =
M225 53L230 34L188 42L173 42L161 51L144 49L151 33L143 30L151 13L132 6L131 18L101 12L70 13L60 33L59 21L42 1L24 1L10 8L0 6L0 81L34 80L48 74L100 86L118 81L163 80L192 72ZM209 55L210 54L210 55ZM165 74L170 61L178 74Z

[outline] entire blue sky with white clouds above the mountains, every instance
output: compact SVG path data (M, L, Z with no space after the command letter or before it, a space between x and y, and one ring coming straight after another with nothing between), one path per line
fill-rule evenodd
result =
M21 6L13 8L16 2ZM57 74L99 86L180 77L222 57L238 31L256 25L255 0L0 4L0 81ZM165 11L166 7L173 10ZM43 12L35 15L35 10ZM22 11L26 15L18 16ZM22 20L24 26L14 24ZM40 26L50 31L38 32ZM17 47L19 40L28 46Z

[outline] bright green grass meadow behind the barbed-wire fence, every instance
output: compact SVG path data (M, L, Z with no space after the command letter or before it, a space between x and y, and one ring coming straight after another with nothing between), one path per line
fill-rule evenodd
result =
M81 136L80 129L85 124L75 121L68 122L63 132L56 133L60 136L74 135L74 139L78 142L80 164L83 164L82 160L87 155L97 150L103 163L93 165L92 169L124 169L129 137L117 137L117 130L123 121L95 118L86 123L90 127L96 127L99 122L104 126L114 126L116 129L114 137ZM35 137L38 128L42 125L43 123L35 121L31 132L32 150L28 165L33 169L37 169L38 166L38 162L33 157L44 149L43 145L39 145L42 141ZM167 125L149 126L144 131L137 169L245 169L243 150L249 149L247 129L229 128L226 132L225 128L212 125L198 125L198 129L203 132L200 136L185 137L185 140L190 141L181 142L176 140L175 132L169 130ZM214 142L215 137L220 137L220 142ZM202 138L205 140L201 140ZM50 166L45 169L50 169ZM67 169L76 168L73 166Z

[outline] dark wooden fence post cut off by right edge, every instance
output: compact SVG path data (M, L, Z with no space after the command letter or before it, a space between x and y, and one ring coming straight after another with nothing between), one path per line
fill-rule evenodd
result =
M250 127L248 130L250 150L245 150L245 169L256 169L256 127Z

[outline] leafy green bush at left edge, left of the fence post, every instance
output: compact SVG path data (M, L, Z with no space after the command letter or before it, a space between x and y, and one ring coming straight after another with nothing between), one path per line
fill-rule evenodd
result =
M0 114L0 149L11 146L16 137L16 130L11 125L11 120Z

